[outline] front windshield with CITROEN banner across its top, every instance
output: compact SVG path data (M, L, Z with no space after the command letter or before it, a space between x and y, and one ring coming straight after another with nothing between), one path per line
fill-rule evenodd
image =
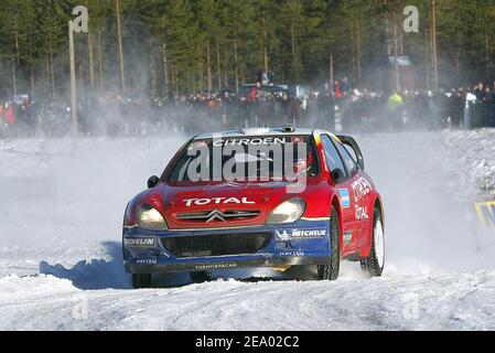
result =
M318 173L311 136L219 138L191 142L168 181L293 181Z

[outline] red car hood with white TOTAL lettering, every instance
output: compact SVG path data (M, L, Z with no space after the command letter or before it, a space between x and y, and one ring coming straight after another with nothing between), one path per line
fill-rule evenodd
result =
M170 229L220 228L262 225L280 203L302 197L305 185L289 182L161 183L143 202L159 210Z

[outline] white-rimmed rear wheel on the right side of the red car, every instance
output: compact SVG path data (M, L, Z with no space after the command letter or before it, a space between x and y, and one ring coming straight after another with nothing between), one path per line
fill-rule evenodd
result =
M370 277L381 277L385 268L385 232L381 213L373 211L373 239L369 256L361 260L361 268Z

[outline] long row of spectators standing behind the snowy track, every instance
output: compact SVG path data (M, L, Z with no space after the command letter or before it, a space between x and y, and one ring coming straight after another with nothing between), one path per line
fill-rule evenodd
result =
M78 131L139 136L286 124L332 131L495 127L495 84L387 93L353 88L343 78L331 87L302 92L258 83L237 95L229 90L153 98L105 94L79 100ZM0 106L0 138L65 136L72 124L71 108L63 100L24 98Z

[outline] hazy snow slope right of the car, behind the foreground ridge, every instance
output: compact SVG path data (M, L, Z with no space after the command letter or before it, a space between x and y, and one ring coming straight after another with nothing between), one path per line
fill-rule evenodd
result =
M465 147L475 145L467 142L465 135L470 133L476 132L384 133L358 139L367 171L384 199L388 275L495 268L495 235L480 229L474 210L480 185L462 172L477 173L472 164L474 147L467 151ZM478 153L487 158L495 149L495 139L488 138L494 132L481 133L485 149Z

